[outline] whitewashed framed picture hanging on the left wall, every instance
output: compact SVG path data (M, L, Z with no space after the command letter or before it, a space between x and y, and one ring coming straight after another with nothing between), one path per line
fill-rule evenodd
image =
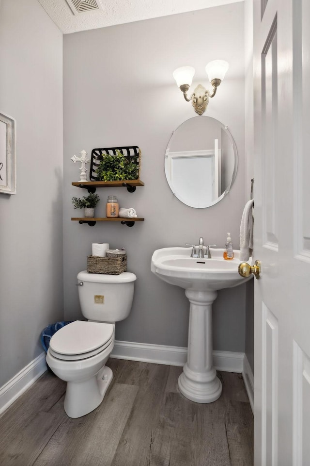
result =
M0 113L0 193L16 194L16 120Z

